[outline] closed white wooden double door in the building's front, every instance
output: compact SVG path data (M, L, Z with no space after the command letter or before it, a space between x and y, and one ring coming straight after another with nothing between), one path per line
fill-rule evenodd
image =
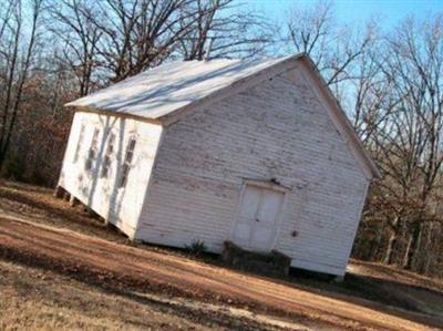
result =
M233 241L246 249L269 251L282 203L282 193L247 185L233 230Z

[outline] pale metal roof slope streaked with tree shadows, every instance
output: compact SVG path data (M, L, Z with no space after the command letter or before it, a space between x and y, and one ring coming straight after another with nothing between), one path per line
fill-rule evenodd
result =
M175 61L142 72L66 106L156 120L292 56L255 61Z

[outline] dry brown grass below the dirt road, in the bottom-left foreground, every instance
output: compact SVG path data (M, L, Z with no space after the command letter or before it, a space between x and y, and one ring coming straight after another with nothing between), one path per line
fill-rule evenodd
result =
M307 330L247 311L110 292L0 260L0 330Z

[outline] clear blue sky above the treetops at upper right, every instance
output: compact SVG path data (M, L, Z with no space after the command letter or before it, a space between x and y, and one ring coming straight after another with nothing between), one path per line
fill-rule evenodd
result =
M250 8L262 10L275 19L284 19L292 7L315 4L316 0L240 0ZM336 0L332 1L340 23L356 23L379 18L382 28L391 28L406 15L423 19L429 14L443 12L443 0Z

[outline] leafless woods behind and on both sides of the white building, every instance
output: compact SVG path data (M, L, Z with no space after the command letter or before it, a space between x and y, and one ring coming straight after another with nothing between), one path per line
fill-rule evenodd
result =
M443 13L385 31L339 24L329 2L272 22L234 0L2 0L1 174L53 186L73 115L63 104L96 89L171 60L297 52L383 173L353 256L443 277Z

